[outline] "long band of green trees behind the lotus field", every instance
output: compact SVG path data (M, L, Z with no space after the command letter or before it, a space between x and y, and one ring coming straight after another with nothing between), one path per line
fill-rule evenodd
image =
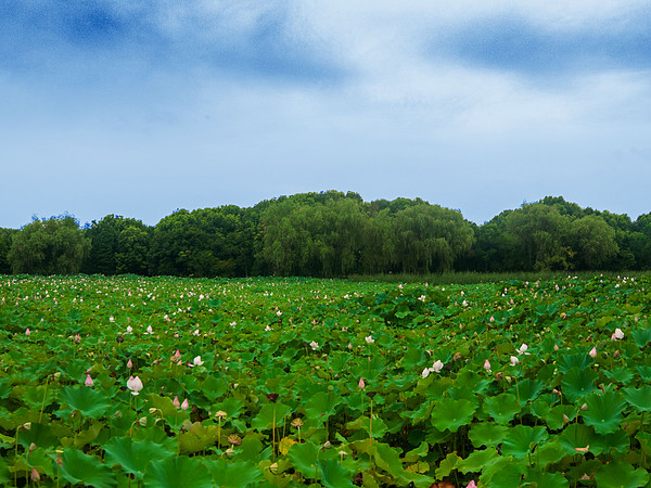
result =
M108 215L80 229L71 216L0 229L0 273L180 277L649 270L651 214L582 208L546 197L483 226L420 198L363 202L304 193L177 210L155 227Z

